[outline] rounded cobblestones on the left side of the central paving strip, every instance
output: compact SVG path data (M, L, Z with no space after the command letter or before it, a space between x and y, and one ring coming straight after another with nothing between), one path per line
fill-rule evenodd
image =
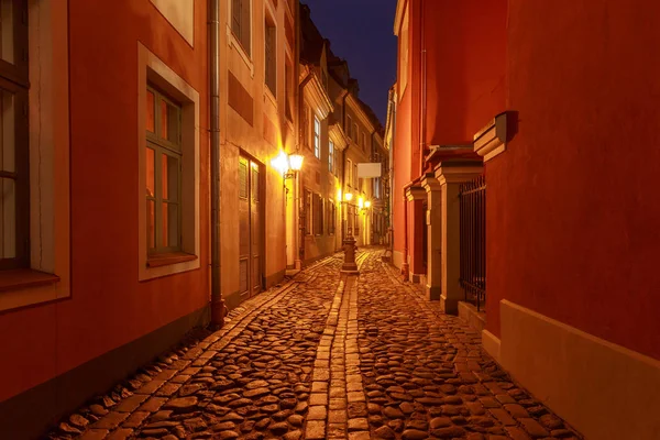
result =
M327 258L62 421L53 439L304 438L317 348L339 285Z

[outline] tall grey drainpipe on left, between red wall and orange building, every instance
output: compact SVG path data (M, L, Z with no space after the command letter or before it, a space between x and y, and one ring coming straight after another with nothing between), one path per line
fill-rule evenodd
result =
M211 143L211 326L224 324L224 299L220 292L220 0L209 1L210 40L210 143Z

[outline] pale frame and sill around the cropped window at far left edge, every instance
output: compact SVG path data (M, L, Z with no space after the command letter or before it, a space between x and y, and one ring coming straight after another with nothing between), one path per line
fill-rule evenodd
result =
M30 268L54 279L0 292L0 311L72 294L68 2L30 2L28 20Z

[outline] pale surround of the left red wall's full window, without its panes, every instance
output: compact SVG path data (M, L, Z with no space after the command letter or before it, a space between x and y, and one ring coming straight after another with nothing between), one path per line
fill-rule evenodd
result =
M139 280L147 280L200 267L199 240L199 92L142 43L138 43L138 150L139 150ZM146 250L146 85L151 82L182 105L182 251L193 260L148 266Z

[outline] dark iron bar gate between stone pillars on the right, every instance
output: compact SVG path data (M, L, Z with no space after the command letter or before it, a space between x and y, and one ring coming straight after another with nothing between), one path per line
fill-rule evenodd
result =
M486 301L486 179L461 185L461 286L465 301L481 310Z

